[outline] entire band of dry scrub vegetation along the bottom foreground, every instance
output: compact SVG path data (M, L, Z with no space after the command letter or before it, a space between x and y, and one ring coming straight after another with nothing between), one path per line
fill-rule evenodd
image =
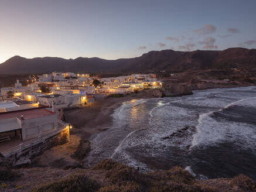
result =
M200 180L194 179L186 170L181 167L173 167L162 172L141 173L138 170L114 162L113 160L103 160L93 167L95 170L105 170L106 181L96 181L90 179L86 174L75 174L66 179L54 181L41 187L34 188L33 191L57 192L57 191L98 191L98 192L213 192L213 191L256 191L255 185L247 176L243 174L228 180L225 190L210 186ZM228 190L227 190L228 189Z

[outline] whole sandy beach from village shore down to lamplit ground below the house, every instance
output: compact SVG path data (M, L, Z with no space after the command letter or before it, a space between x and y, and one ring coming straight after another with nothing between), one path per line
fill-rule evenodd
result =
M118 98L97 94L95 105L92 107L65 109L64 121L73 126L70 130L70 142L46 150L42 155L32 159L32 166L60 169L87 167L83 159L90 152L90 137L111 128L111 115L123 102L142 98L152 96L143 92Z

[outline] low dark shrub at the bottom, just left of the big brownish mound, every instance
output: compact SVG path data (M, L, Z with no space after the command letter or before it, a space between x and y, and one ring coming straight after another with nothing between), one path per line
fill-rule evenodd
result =
M96 181L89 179L84 174L76 174L67 179L62 179L50 184L46 184L40 188L35 188L37 192L93 192L100 188L100 184Z

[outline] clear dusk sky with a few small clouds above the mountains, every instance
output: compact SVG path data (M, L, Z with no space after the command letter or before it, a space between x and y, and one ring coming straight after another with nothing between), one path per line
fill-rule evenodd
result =
M0 0L0 63L256 47L256 1Z

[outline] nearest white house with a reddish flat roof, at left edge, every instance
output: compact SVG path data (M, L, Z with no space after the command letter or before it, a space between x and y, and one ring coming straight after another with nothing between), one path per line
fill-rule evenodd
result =
M57 128L56 114L47 108L0 113L0 142L28 140Z

